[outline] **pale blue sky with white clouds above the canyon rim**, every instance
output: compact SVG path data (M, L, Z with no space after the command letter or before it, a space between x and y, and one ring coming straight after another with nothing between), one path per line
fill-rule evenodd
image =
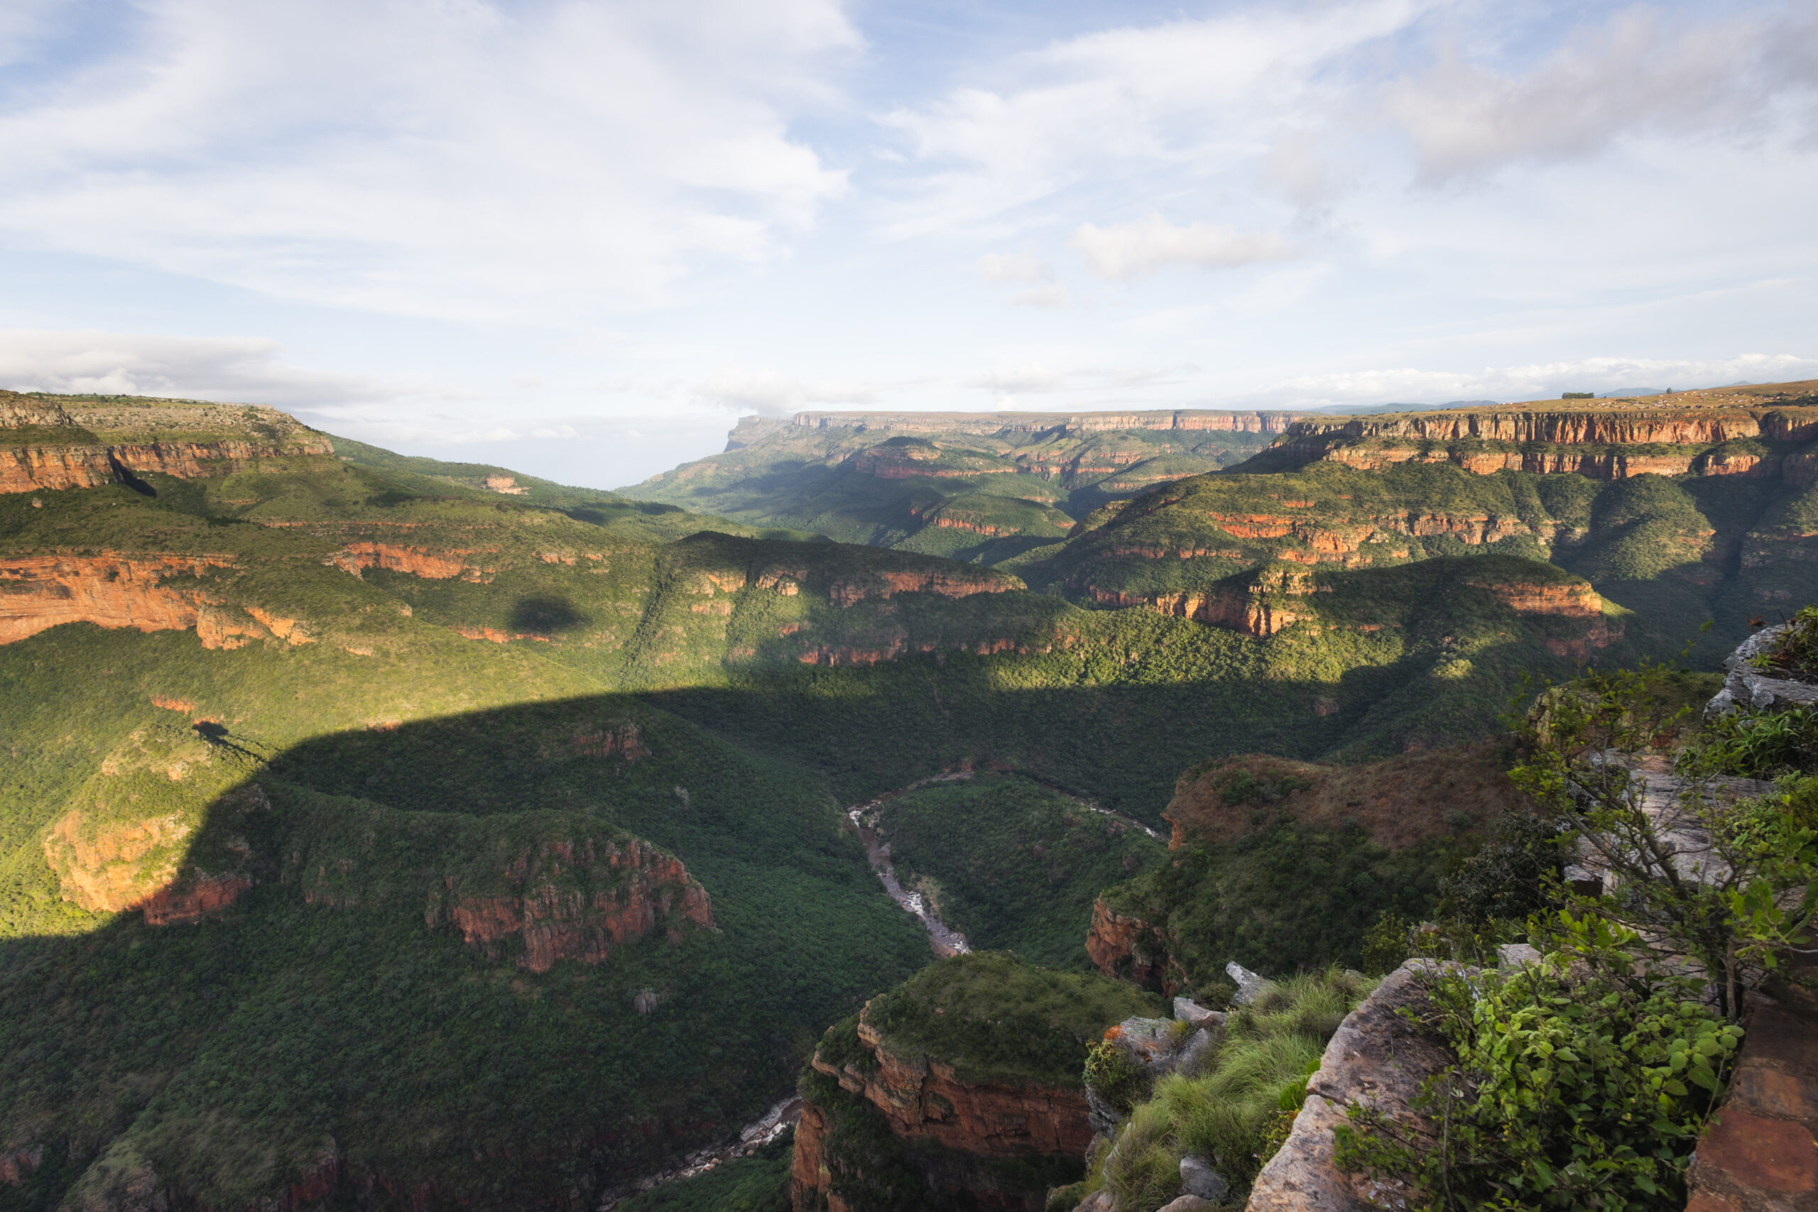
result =
M0 387L594 487L1818 378L1811 0L0 0Z

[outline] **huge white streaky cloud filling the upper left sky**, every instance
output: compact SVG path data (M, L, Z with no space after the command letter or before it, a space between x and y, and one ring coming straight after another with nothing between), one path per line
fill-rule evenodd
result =
M698 265L765 260L845 189L787 129L858 47L838 0L136 13L0 94L13 240L316 303L524 320L642 307Z

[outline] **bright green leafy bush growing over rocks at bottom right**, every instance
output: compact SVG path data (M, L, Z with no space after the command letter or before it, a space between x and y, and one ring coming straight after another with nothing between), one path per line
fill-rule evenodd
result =
M1685 1207L1742 1028L1693 999L1702 981L1640 978L1633 930L1563 916L1562 934L1567 947L1514 974L1427 979L1458 1063L1414 1107L1443 1127L1414 1137L1353 1107L1344 1168L1405 1183L1416 1212Z

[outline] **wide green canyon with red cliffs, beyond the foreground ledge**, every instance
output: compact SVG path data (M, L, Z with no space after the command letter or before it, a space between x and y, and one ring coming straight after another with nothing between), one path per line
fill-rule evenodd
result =
M791 1163L622 1207L1080 1181L1107 1027L1436 912L1511 700L1818 601L1811 387L747 418L625 492L0 394L0 1210L578 1212L798 1078Z

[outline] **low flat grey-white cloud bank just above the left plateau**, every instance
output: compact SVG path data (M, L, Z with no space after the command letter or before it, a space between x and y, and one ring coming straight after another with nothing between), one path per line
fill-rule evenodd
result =
M247 336L0 329L0 385L280 407L347 403L396 391L365 376L293 367L278 354L276 342Z

